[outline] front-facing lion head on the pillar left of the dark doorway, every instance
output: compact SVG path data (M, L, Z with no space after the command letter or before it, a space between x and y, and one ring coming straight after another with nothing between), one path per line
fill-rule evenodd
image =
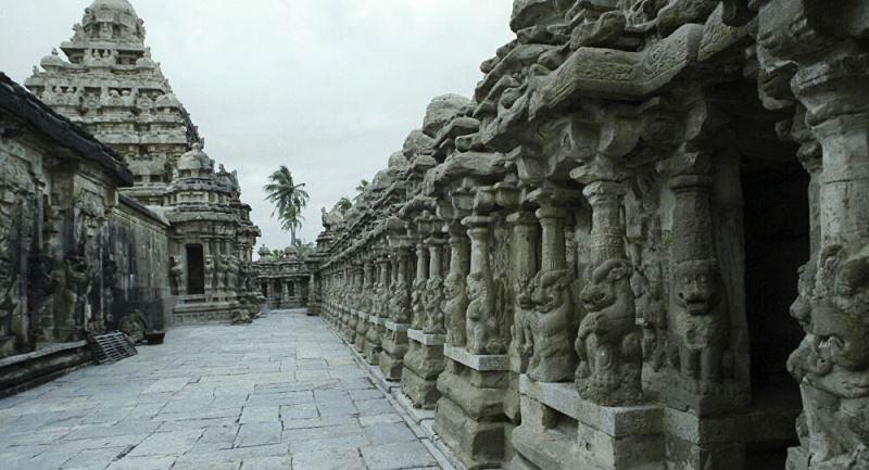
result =
M721 274L715 259L682 262L673 275L672 302L689 315L709 315L721 302Z

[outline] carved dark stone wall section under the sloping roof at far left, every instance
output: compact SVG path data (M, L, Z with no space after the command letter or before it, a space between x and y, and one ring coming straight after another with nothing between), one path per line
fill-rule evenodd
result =
M9 91L4 105L25 104L18 117L2 117L3 127L16 129L0 145L2 355L113 326L104 249L117 187L126 183L108 169L117 164L103 148L91 143L91 152L76 153L81 135L59 131L43 110L26 109L26 92Z

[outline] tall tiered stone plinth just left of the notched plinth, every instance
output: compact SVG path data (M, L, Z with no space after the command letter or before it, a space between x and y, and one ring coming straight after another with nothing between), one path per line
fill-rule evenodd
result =
M509 360L449 344L443 354L434 431L467 469L500 468L513 428L504 414Z

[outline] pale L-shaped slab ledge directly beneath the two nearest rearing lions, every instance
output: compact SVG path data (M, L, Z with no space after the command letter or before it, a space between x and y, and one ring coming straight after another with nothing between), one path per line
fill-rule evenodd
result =
M615 437L659 434L664 429L664 409L658 405L601 406L582 399L572 383L534 382L527 374L519 377L519 392Z

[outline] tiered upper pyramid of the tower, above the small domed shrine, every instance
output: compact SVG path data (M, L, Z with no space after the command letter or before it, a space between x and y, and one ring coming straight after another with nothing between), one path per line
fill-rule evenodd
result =
M25 85L124 157L135 177L127 195L159 206L178 158L201 139L144 35L127 0L95 0L60 47L66 59L52 50Z

